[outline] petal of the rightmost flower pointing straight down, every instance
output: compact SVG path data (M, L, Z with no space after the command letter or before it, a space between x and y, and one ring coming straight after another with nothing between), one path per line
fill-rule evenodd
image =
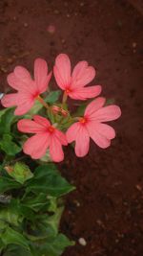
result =
M78 157L85 156L90 148L90 136L85 126L80 125L80 128L76 134L75 140L75 154Z

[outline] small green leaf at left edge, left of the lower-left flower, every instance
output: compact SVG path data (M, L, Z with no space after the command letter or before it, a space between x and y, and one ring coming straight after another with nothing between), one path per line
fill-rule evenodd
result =
M8 155L11 156L14 156L16 153L22 150L21 147L12 141L12 136L10 134L3 135L3 138L0 141L0 147L2 151L5 151Z

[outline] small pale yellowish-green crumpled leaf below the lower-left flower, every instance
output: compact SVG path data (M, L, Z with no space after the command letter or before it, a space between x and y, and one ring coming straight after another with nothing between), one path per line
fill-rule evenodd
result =
M29 166L23 162L17 162L12 168L13 171L9 175L21 184L24 184L26 180L33 176Z

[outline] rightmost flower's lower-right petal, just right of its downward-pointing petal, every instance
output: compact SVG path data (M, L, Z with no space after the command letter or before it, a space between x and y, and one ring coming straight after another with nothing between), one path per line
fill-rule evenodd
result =
M94 126L87 126L90 137L100 148L106 149L111 145L111 140L107 139L103 134L100 133L100 130L96 130Z

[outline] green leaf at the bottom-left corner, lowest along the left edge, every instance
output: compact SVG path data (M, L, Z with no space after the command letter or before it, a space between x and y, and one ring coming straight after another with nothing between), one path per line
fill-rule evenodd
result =
M29 241L21 233L10 228L10 226L2 234L1 240L5 245L18 244L30 250Z

